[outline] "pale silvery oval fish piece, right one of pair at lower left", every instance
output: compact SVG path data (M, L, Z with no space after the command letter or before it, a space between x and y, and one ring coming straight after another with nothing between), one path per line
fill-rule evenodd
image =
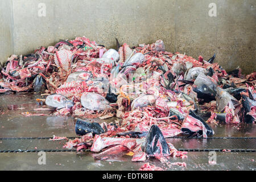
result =
M90 110L106 110L111 108L109 101L105 97L93 92L84 92L81 96L81 104Z

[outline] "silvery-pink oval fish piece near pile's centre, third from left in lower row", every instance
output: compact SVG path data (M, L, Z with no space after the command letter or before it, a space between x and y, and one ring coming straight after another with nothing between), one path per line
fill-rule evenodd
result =
M148 105L154 105L156 101L156 98L154 95L151 94L142 94L138 98L135 98L135 100L131 103L132 109L137 109L138 107L146 107Z

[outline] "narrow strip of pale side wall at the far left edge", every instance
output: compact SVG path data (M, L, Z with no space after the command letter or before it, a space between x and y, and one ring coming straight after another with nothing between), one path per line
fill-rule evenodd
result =
M9 0L0 1L0 62L14 53L13 8Z

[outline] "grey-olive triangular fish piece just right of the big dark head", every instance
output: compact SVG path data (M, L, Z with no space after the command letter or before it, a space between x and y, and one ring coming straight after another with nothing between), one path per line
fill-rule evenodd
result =
M216 94L216 101L217 101L217 110L219 112L225 109L225 106L229 105L234 109L234 105L238 104L239 101L226 92L224 89L217 87L217 94Z

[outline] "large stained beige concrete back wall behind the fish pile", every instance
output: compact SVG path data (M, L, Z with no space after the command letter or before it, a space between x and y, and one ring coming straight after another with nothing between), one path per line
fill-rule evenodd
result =
M212 2L216 17L208 15ZM46 4L45 17L38 16L39 3ZM225 69L249 73L256 71L255 8L255 0L13 0L14 53L76 36L106 47L114 38L130 46L162 39L170 52L205 59L216 53Z

